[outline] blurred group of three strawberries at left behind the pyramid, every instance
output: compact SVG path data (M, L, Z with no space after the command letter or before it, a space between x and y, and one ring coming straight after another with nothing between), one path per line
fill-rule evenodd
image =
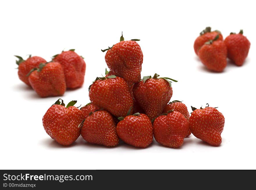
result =
M15 55L18 76L31 86L40 97L61 96L66 88L79 88L83 85L86 64L74 49L54 55L50 62L42 57L29 56L24 60Z

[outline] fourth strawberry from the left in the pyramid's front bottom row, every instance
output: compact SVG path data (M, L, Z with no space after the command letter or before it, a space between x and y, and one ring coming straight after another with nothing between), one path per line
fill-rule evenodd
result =
M170 111L154 119L153 131L157 142L178 148L189 132L189 122L181 113Z

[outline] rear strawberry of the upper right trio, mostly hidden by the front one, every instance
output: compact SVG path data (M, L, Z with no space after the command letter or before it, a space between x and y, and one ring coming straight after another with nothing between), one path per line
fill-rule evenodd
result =
M205 44L205 42L209 40L213 40L216 37L216 35L219 35L218 40L221 40L221 41L223 40L223 36L221 35L221 32L218 30L211 32L211 27L206 27L205 30L200 32L200 36L198 36L194 42L194 50L196 55L198 55L198 51Z

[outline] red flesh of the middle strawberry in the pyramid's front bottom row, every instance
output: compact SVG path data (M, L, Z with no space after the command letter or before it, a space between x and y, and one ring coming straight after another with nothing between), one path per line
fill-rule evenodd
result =
M117 124L118 137L132 146L146 148L153 141L153 126L145 114L128 115Z

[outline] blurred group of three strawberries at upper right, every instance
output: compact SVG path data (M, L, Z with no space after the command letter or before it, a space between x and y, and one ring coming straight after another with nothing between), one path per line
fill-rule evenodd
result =
M250 42L243 35L243 30L238 34L231 32L223 41L220 31L211 31L211 27L206 27L194 42L196 55L207 69L215 72L222 72L225 69L227 57L237 66L242 66L249 49Z

